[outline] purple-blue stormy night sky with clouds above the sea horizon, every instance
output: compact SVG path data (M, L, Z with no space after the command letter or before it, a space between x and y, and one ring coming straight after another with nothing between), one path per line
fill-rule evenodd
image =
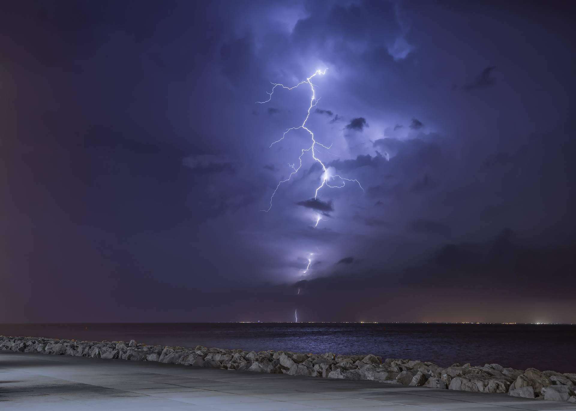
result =
M195 3L3 3L2 322L576 322L568 2Z

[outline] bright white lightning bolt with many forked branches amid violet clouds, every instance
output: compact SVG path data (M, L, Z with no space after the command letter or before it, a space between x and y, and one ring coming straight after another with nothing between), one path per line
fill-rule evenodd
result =
M276 194L276 191L278 191L278 188L280 187L280 185L283 182L289 181L290 178L292 178L292 176L294 174L298 173L298 170L300 170L300 168L302 167L302 156L304 156L304 154L308 153L308 152L310 152L312 154L312 158L314 159L314 162L320 163L320 165L322 166L322 170L323 170L323 173L320 177L321 184L319 185L318 188L316 188L316 191L314 192L314 199L316 199L316 197L318 196L318 191L322 187L324 187L324 185L326 185L327 187L330 187L330 188L342 188L342 187L344 187L344 185L346 185L346 181L356 182L358 184L358 186L362 189L362 191L364 191L364 189L362 188L362 185L360 184L360 182L358 180L351 180L349 178L344 178L342 176L339 176L338 174L335 174L334 176L329 175L328 169L326 168L324 163L318 157L316 157L316 151L317 151L316 146L321 146L321 147L324 147L324 149L329 150L330 147L332 147L332 144L330 144L330 146L327 147L327 146L324 146L324 144L317 142L316 139L314 139L314 133L312 131L310 131L309 128L306 127L306 121L308 121L308 118L310 117L310 110L312 110L312 108L320 101L320 98L316 98L316 89L314 89L314 84L312 83L312 78L316 77L316 75L324 75L326 73L326 70L328 70L328 69L324 69L324 71L316 70L316 72L314 74L312 74L310 77L306 78L305 81L301 81L300 83L298 83L297 85L292 86L292 87L286 87L285 85L280 84L280 83L272 83L272 85L274 85L274 87L272 87L272 92L270 92L270 93L266 92L266 94L268 94L268 100L256 101L257 104L265 104L268 101L272 100L272 94L274 94L274 90L276 89L276 87L282 87L283 89L286 89L286 90L293 90L296 87L301 86L302 84L308 84L308 85L310 85L310 90L312 90L312 97L310 98L310 105L308 107L308 113L306 114L306 118L304 119L304 122L302 123L302 125L299 125L298 127L288 128L282 134L281 138L279 138L278 140L276 140L275 142L270 144L270 147L274 146L274 144L276 144L276 143L281 142L285 138L285 136L288 132L293 131L293 130L300 130L300 129L308 131L308 133L310 134L310 138L312 139L312 145L308 148L301 149L301 154L298 157L298 167L296 167L296 163L288 165L293 170L290 173L290 176L288 176L288 178L286 178L285 180L281 180L280 182L278 182L278 185L276 185L274 192L272 192L272 195L270 196L270 207L268 207L267 210L260 210L260 211L268 212L271 210L272 201L274 200L274 195ZM342 182L341 185L329 184L328 180L334 181L335 177L338 177L340 179L340 181ZM316 226L318 225L319 221L320 221L320 219L316 221ZM314 226L314 227L316 227L316 226ZM308 267L310 267L310 265L308 265ZM306 269L306 271L308 271L308 268Z

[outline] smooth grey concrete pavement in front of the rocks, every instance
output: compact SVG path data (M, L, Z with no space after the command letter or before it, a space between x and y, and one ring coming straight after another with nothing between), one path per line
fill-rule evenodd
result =
M576 404L373 381L0 351L0 409L576 411Z

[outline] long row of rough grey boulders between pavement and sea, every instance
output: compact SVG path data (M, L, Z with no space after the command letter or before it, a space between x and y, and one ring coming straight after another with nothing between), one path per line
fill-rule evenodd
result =
M514 370L499 364L471 366L452 364L442 368L430 362L393 359L369 355L321 355L288 351L244 351L241 349L162 347L137 344L134 340L77 341L35 337L0 336L0 349L14 352L36 352L157 361L184 366L213 367L224 370L305 375L321 378L374 380L382 383L424 386L437 389L507 393L515 397L576 402L576 374L539 371L535 368Z

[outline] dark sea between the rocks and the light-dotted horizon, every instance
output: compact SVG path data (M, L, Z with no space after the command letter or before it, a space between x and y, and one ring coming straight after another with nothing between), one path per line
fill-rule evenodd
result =
M242 348L576 372L576 325L3 324L0 335Z

